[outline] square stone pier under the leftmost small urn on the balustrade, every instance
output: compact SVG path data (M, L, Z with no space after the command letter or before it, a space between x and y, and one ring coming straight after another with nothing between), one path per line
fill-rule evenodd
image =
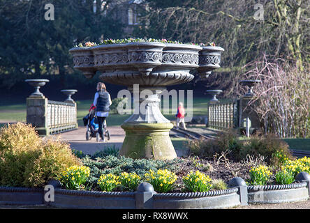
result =
M50 134L47 128L48 100L45 96L29 96L27 98L27 124L36 128L39 135Z

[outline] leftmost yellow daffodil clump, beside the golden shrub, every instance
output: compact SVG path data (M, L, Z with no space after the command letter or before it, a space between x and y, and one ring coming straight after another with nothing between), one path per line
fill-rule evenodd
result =
M63 172L59 180L61 185L68 190L84 189L84 184L89 177L89 172L89 167L69 167Z

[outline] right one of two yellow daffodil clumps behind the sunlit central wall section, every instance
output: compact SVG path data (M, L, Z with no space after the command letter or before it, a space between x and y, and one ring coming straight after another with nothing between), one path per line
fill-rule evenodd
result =
M191 171L182 178L186 190L190 192L207 192L212 188L211 178L200 171Z

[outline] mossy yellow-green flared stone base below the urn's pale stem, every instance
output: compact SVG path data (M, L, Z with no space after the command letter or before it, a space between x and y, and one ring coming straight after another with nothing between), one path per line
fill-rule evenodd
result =
M172 123L124 123L126 137L119 155L154 160L173 160L177 157L169 137Z

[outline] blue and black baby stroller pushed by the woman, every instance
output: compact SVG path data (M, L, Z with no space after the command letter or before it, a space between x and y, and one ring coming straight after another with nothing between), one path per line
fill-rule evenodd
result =
M96 117L96 111L94 108L89 110L89 114L84 116L83 118L84 126L87 126L86 130L86 140L90 140L92 137L96 137L96 141L100 140L99 135L99 124ZM107 122L104 121L103 123L103 136L107 137L110 140L110 132L107 130Z

